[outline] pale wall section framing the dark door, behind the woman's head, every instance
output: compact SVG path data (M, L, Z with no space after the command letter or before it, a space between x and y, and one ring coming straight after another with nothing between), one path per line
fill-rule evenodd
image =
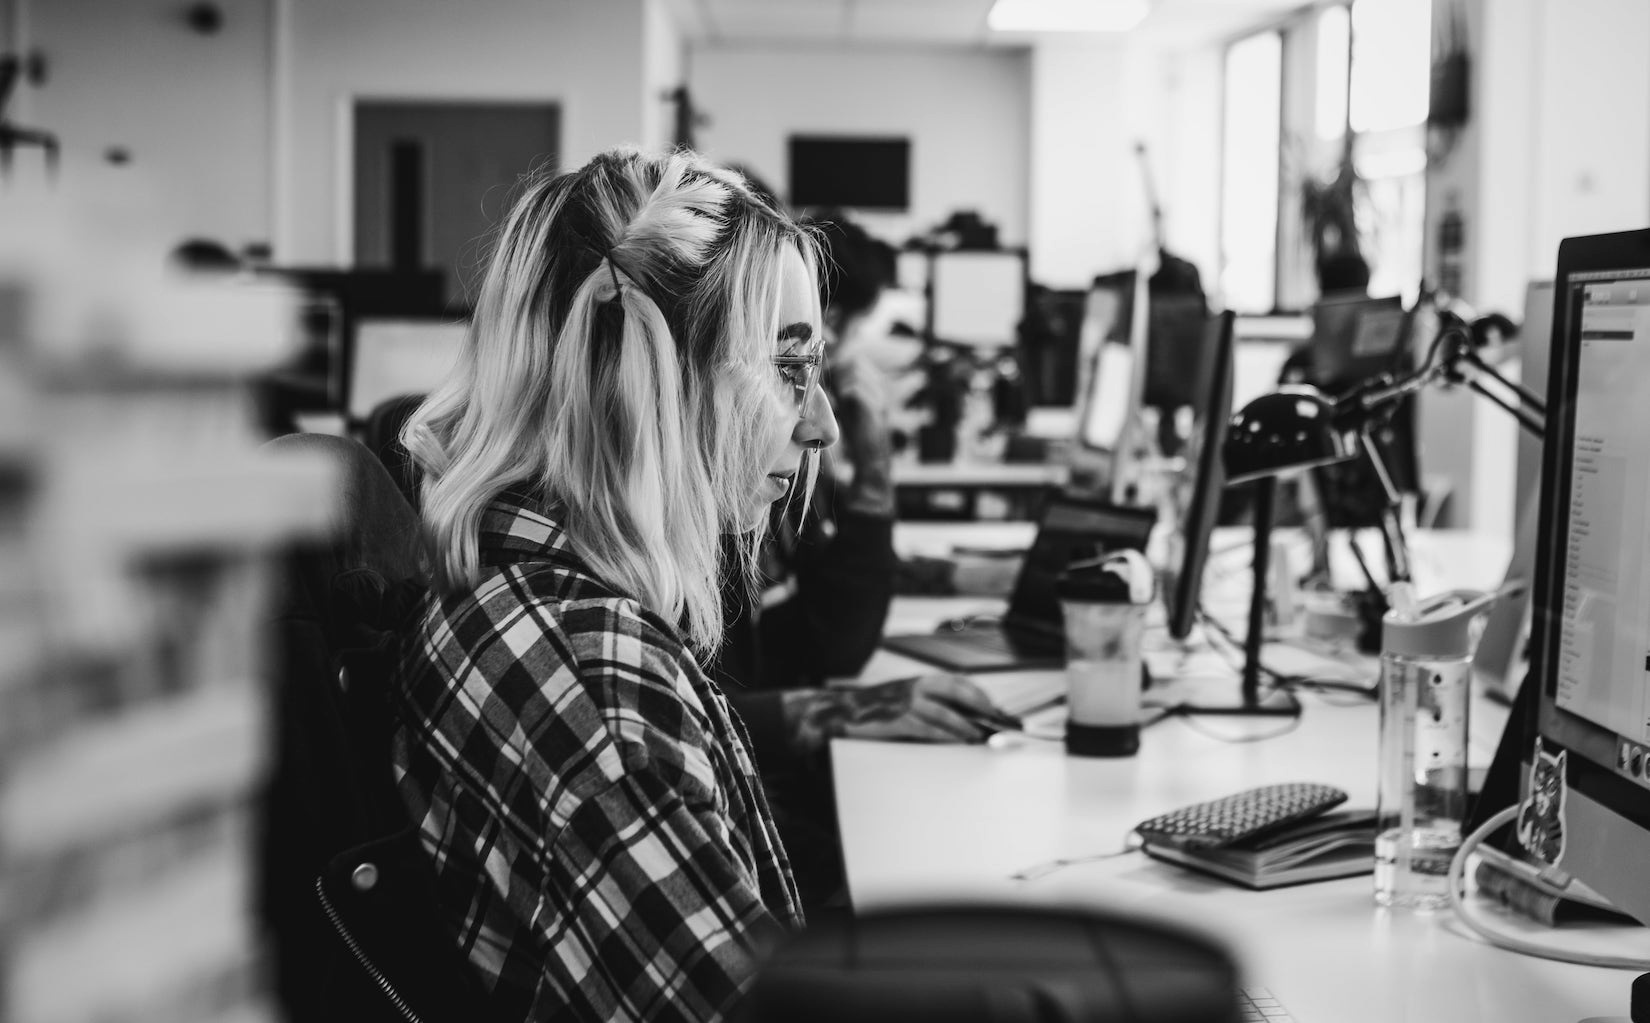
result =
M559 102L563 167L647 142L642 0L274 2L282 262L350 261L358 97Z

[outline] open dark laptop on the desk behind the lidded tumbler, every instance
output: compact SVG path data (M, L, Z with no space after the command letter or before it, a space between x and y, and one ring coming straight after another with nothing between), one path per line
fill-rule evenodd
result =
M962 673L1063 667L1066 629L1054 581L1072 561L1124 548L1143 551L1155 523L1152 508L1058 493L1043 510L1002 619L884 635L883 648Z

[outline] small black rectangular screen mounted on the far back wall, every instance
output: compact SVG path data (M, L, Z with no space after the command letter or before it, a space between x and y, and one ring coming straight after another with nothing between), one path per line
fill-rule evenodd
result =
M909 139L792 135L789 155L792 206L911 206Z

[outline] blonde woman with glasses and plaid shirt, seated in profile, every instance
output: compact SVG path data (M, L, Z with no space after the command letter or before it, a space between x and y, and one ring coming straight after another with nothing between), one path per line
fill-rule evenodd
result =
M393 761L492 1018L721 1018L802 922L698 658L837 439L815 277L810 238L693 155L533 180L403 432L434 592Z

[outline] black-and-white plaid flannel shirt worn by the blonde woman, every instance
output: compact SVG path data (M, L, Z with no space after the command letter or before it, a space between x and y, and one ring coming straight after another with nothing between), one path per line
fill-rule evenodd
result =
M480 553L406 637L393 761L490 1015L721 1018L802 924L744 728L528 503Z

